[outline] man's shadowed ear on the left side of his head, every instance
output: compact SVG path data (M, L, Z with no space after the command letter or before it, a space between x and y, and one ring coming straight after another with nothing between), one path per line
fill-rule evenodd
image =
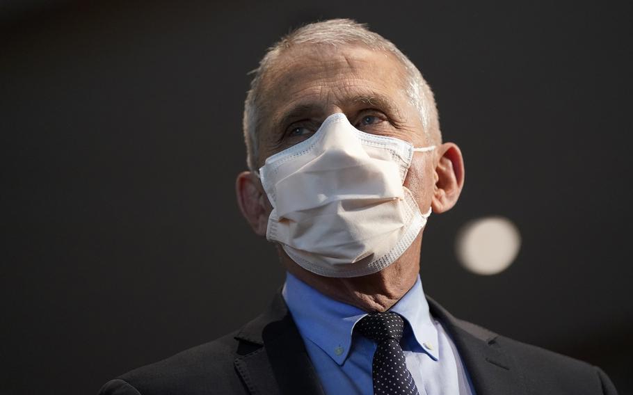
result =
M237 205L248 221L253 232L258 236L266 236L266 227L271 208L266 198L259 177L253 172L241 172L235 181Z

